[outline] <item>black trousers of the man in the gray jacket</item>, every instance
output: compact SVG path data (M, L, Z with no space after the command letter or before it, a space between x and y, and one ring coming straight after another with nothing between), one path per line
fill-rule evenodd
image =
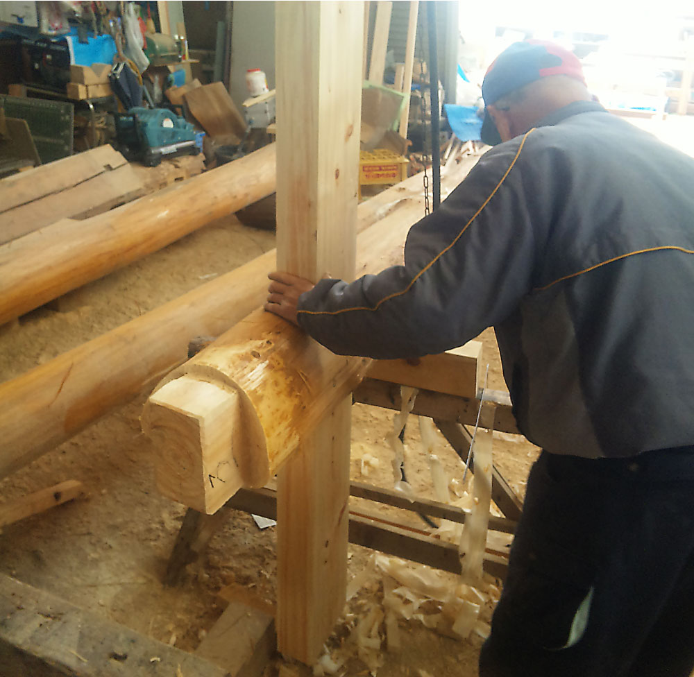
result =
M542 452L480 677L689 677L694 446Z

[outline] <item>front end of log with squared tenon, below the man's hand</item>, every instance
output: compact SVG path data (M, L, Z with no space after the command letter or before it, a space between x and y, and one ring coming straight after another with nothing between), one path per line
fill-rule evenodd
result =
M143 429L158 449L159 490L213 513L241 486L263 486L369 363L254 311L171 372L146 403ZM236 481L214 481L221 462L233 462Z

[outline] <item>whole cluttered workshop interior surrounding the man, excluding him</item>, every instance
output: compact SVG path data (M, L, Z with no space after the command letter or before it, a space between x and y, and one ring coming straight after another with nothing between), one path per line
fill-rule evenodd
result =
M694 8L635 7L0 2L0 677L477 675L540 454L493 328L341 357L267 275L402 262L519 41L694 157Z

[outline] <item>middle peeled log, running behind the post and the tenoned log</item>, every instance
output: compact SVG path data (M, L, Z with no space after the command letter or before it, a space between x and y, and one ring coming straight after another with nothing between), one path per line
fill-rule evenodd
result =
M452 190L472 164L459 164L444 174L442 190ZM399 229L400 242L393 240L383 266L397 261L407 228L423 214L421 182L421 174L412 176L359 205L357 229L368 228L359 236L360 251ZM379 219L385 219L384 224L370 234L369 226ZM274 269L275 252L267 252L0 384L0 479L157 382L186 359L188 343L196 336L219 336L262 305L266 274ZM360 264L359 274L366 271Z

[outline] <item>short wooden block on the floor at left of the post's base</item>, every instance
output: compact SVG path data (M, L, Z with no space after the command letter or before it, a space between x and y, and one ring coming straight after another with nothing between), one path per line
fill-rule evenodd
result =
M233 677L261 677L276 651L275 620L251 606L230 601L195 655Z

